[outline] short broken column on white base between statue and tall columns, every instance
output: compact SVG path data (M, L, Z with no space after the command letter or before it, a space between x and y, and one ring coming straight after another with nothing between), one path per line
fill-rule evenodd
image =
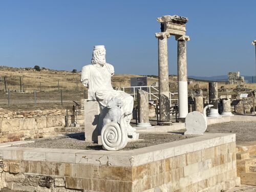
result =
M151 126L148 118L148 93L143 90L137 90L138 98L138 124L139 127Z

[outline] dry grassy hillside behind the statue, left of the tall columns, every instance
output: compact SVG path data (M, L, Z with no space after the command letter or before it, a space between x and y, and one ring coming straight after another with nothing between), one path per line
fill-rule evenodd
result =
M80 72L72 73L69 71L56 71L56 70L41 70L41 71L27 71L25 69L8 68L3 70L0 68L0 77L4 80L6 76L7 89L20 90L19 77L22 79L22 90L26 92L29 90L41 90L50 91L58 89L60 90L85 90L84 86L80 83ZM131 77L142 77L141 75L131 74L115 74L112 77L113 87L130 87ZM148 85L156 82L157 78L148 77ZM24 84L24 86L23 86ZM4 81L0 82L0 90L5 90Z

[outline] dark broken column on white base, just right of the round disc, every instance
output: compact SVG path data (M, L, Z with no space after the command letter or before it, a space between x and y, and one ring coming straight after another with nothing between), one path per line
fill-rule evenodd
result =
M220 117L218 112L218 82L209 82L209 104L213 104L209 117Z

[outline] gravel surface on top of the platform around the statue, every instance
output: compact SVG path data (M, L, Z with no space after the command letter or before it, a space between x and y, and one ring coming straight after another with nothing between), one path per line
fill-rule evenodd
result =
M27 143L15 146L40 148L71 148L76 150L102 150L102 146L96 143L84 142L83 134L70 134L69 137L70 138L42 139L36 140L36 142L34 143ZM123 150L133 150L135 148L142 148L146 146L152 146L191 137L195 136L171 133L140 133L139 139L141 140L127 143L126 147L124 147Z

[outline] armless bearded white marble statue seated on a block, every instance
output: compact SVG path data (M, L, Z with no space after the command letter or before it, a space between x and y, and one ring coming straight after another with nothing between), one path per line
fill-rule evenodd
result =
M88 88L88 100L97 100L102 113L108 103L117 98L122 102L121 114L132 112L134 98L123 91L113 89L111 77L114 75L114 67L106 63L105 55L104 46L94 46L91 64L82 68L81 82ZM130 125L131 117L129 115L126 118L128 135L135 131Z

